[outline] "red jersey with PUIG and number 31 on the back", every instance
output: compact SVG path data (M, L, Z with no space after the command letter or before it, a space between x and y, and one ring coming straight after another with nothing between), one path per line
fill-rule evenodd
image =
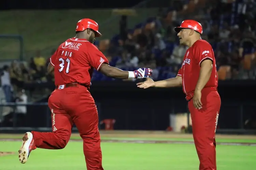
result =
M70 38L50 58L54 66L55 85L79 83L90 86L93 69L97 71L108 59L86 39Z

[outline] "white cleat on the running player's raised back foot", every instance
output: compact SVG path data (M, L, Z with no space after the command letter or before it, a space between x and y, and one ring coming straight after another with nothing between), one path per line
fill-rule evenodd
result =
M31 132L25 133L22 138L22 146L19 149L19 162L25 164L30 152L35 148L33 134Z

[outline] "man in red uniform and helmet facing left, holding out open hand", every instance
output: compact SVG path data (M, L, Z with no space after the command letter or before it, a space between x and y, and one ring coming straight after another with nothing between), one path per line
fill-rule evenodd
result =
M216 170L215 132L221 98L217 91L214 52L211 45L201 39L203 30L199 22L185 20L174 30L180 44L189 47L177 76L157 82L148 78L137 85L139 88L182 86L191 113L199 170Z

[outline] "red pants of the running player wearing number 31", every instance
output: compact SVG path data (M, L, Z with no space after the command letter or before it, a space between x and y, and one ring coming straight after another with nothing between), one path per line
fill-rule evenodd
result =
M67 145L73 123L81 138L87 170L103 170L98 130L98 112L86 87L56 89L48 100L52 112L52 131L32 131L37 148L63 149Z

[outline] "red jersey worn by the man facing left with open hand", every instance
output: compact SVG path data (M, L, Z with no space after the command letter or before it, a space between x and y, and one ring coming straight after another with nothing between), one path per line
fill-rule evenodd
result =
M193 46L187 49L182 67L177 76L182 77L182 87L185 94L195 91L199 78L201 63L204 60L211 60L213 69L209 81L204 87L217 87L218 75L212 46L205 40L197 40Z

